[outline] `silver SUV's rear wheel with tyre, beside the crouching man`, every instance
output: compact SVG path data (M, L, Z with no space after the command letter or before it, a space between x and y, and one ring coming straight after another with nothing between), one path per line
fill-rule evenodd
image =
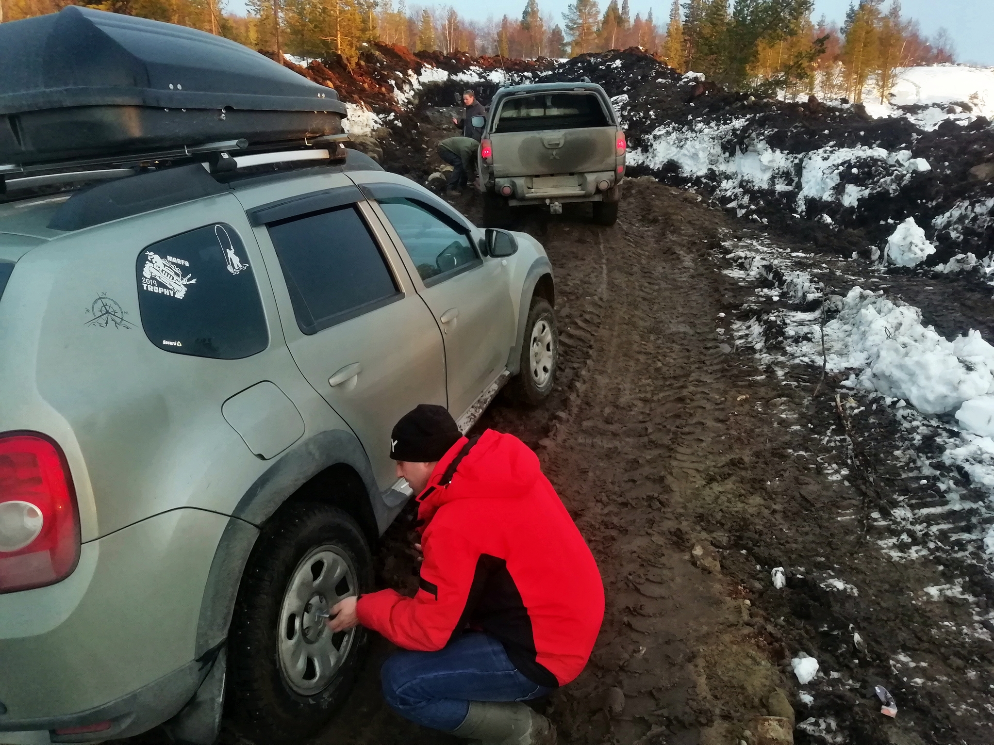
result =
M248 739L309 739L348 695L366 632L332 634L317 614L368 590L372 563L359 525L327 505L288 506L262 527L228 638L229 711Z

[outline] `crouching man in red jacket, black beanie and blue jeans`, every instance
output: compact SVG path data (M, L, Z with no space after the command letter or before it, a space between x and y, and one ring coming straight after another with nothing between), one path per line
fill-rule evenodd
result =
M421 404L391 440L417 495L417 593L346 598L328 624L409 650L382 673L408 719L486 745L552 745L552 723L521 701L579 675L600 629L603 584L580 530L517 437L467 440L443 407Z

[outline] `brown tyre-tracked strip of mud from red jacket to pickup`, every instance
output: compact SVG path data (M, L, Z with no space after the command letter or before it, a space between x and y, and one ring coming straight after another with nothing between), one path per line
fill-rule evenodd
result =
M688 222L678 193L661 192L634 184L622 222L597 231L601 251L610 243L609 307L542 443L607 601L590 666L553 699L571 743L735 742L780 684L767 642L746 623L741 588L691 561L696 546L718 558L685 517L723 437L721 389L733 364L713 323L721 275L702 250L714 227Z

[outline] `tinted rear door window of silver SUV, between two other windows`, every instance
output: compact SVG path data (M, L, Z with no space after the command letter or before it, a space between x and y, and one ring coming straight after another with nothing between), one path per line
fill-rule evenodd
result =
M404 297L355 205L268 224L297 326L316 334Z

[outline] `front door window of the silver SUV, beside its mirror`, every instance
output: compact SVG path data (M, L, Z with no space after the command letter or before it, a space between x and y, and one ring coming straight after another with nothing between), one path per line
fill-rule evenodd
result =
M377 200L427 286L475 265L479 256L466 228L427 205L404 197Z

